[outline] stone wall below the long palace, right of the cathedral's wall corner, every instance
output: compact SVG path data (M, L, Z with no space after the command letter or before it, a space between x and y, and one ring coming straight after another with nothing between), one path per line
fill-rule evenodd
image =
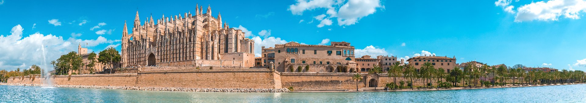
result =
M356 89L356 73L281 73L283 88L294 90L352 90ZM358 87L366 85L366 75L358 82Z

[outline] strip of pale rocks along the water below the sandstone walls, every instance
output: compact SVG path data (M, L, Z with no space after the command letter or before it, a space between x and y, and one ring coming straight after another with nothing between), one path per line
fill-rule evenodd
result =
M69 87L69 88L100 88L118 90L146 91L195 91L195 92L289 92L287 88L181 88L181 87L121 87L121 86L89 86L89 85L45 85L45 84L6 84L38 87Z

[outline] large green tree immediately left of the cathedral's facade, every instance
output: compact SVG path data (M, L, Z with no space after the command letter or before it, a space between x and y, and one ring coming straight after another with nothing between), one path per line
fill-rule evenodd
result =
M108 64L108 66L110 66L110 74L112 74L114 63L120 62L120 54L118 54L118 50L114 49L114 47L108 47L108 49L100 51L98 54L100 55L100 57L98 57L98 62Z

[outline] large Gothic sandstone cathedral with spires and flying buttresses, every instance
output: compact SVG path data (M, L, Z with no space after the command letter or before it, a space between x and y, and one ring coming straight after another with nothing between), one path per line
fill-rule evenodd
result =
M156 23L155 23L156 21ZM222 15L202 6L195 14L147 18L141 25L138 11L132 33L122 30L122 67L253 67L254 40L230 28Z

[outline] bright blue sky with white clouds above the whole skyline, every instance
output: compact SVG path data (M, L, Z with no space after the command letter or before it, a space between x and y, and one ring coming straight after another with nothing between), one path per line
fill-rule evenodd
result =
M345 41L359 55L436 54L458 63L586 70L584 0L0 2L0 70L50 68L48 61L77 51L79 43L91 51L120 50L124 20L132 28L137 10L144 21L151 13L195 13L196 4L220 12L230 28L246 29L258 48Z

